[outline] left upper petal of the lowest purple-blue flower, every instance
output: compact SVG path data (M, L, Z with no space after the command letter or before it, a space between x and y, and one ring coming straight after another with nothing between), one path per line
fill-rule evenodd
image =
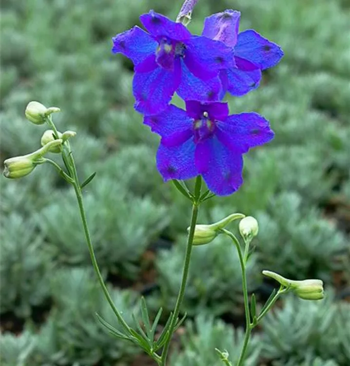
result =
M162 143L167 146L176 144L172 140L182 141L183 136L188 136L184 141L188 140L190 138L188 131L192 134L193 119L186 111L173 104L159 114L145 116L143 123L150 126L152 132L160 135Z

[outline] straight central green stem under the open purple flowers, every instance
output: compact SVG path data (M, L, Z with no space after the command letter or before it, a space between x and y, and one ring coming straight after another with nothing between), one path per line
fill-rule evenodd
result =
M200 197L201 183L202 183L201 176L198 176L195 181L195 187L194 187L194 203L192 206L191 225L190 225L190 232L188 234L188 239L187 239L185 262L184 262L184 266L183 266L181 286L180 286L180 291L177 296L175 309L173 312L173 317L172 317L172 320L171 320L171 323L169 326L168 338L164 344L164 348L162 351L161 364L160 364L161 366L166 365L166 360L167 360L169 346L170 346L170 340L171 340L173 332L174 332L177 317L180 312L180 306L182 304L182 300L183 300L183 297L185 294L186 282L187 282L188 272L189 272L189 268L190 268L191 252L192 252L192 246L193 246L192 244L193 244L193 238L194 238L194 229L195 229L195 224L197 223L198 206L199 206L198 201L199 201L199 197Z

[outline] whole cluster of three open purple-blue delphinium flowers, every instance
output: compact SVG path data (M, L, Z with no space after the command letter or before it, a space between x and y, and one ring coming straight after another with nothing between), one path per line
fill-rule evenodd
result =
M204 20L201 36L151 10L113 38L114 53L134 62L133 94L144 123L161 136L157 168L165 181L201 175L216 195L242 184L242 154L269 142L269 122L257 113L230 114L225 94L255 89L261 71L277 64L281 48L254 30L239 33L240 13ZM186 110L169 104L177 94Z

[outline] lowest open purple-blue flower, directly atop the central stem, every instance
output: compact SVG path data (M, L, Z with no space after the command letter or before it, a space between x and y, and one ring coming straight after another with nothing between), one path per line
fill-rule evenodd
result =
M170 104L144 123L161 136L157 168L164 181L203 176L208 188L225 196L243 183L242 154L273 138L257 113L229 116L227 103L186 101L186 111Z

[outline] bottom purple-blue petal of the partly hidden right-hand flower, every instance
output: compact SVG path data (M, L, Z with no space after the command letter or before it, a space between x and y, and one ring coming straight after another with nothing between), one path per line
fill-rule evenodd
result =
M225 91L234 97L241 97L259 86L261 71L242 71L235 68L221 70L220 80Z

